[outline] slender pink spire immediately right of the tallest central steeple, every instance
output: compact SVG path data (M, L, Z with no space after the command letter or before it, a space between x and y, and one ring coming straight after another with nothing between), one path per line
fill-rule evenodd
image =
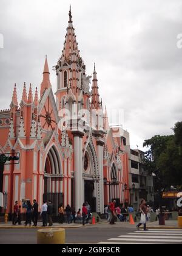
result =
M93 70L93 84L92 84L92 107L98 109L101 107L99 93L98 93L98 80L96 76L96 69L94 63L94 70Z

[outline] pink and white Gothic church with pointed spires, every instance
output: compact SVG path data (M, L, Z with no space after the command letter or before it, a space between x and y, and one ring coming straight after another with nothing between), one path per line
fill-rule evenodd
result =
M0 112L0 154L19 153L19 163L0 166L0 192L7 194L7 212L15 201L44 199L76 210L88 201L93 212L116 199L129 203L128 155L117 129L109 126L99 96L94 66L92 88L76 41L69 12L62 55L55 66L52 91L45 58L40 92L24 84L18 103L16 85L10 109ZM3 209L2 209L3 210Z

